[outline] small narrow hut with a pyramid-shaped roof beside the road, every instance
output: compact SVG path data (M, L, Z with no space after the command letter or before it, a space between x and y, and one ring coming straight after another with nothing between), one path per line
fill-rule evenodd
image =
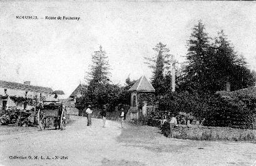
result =
M145 76L141 76L128 91L131 92L130 118L137 119L143 106L153 105L155 89Z

